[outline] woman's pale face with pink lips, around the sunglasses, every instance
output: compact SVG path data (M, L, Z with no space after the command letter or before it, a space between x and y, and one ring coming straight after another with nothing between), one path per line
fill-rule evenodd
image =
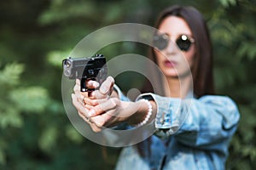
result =
M166 34L170 41L164 49L154 49L156 60L166 77L184 77L188 75L193 65L195 43L191 43L187 51L177 47L177 38L186 35L192 38L188 24L180 17L169 16L159 27L160 34Z

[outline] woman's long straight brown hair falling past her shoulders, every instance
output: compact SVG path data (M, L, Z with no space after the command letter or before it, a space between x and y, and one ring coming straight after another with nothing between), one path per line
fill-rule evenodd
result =
M156 20L155 28L159 28L161 22L168 16L177 16L183 18L189 25L190 30L193 33L195 39L195 60L194 65L191 68L193 77L194 94L196 97L201 97L206 94L214 94L213 76L212 76L212 42L210 39L209 31L206 21L203 19L201 13L189 6L174 5L170 8L163 10L158 19ZM156 62L154 54L154 48L149 48L148 58ZM152 76L154 81L162 82L159 71L154 71L149 68L149 75ZM159 89L164 89L163 84L160 84ZM152 86L147 81L144 83L143 93L151 92L154 94L165 95L163 91L154 92ZM148 146L148 150L144 147ZM137 144L137 149L141 156L145 156L145 153L150 154L150 138L144 140L142 143Z

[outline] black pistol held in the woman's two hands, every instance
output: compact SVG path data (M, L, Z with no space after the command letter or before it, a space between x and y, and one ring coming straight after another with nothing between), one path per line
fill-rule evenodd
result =
M89 58L72 58L62 60L63 75L69 79L80 79L81 92L91 92L94 88L86 88L87 80L94 80L102 84L107 78L108 68L103 54L96 54Z

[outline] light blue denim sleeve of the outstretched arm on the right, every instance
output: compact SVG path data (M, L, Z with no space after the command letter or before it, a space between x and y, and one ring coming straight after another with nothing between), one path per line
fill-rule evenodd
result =
M183 143L201 148L220 147L236 131L239 111L232 99L226 96L207 95L200 99L173 99L155 94L157 105L154 121L155 135L166 139L170 135Z

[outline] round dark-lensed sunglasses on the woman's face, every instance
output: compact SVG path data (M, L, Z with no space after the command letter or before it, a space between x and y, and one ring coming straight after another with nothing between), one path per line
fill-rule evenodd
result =
M167 34L160 34L154 36L153 44L154 47L158 48L159 50L163 50L168 46L169 41L170 37ZM191 44L195 43L195 40L192 37L182 34L177 37L175 42L180 50L189 51Z

